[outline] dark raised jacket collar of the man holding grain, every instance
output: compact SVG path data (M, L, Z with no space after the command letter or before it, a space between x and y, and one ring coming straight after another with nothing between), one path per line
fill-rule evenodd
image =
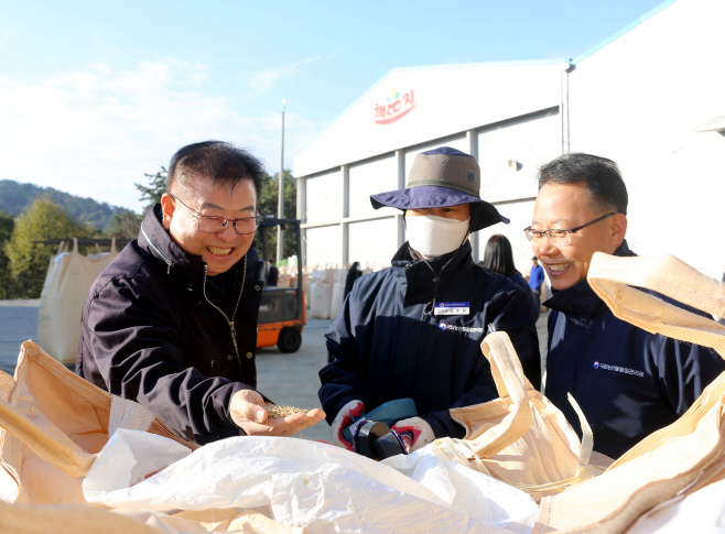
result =
M201 255L187 254L178 247L161 224L161 204L155 204L147 212L139 231L139 247L166 264L171 273L183 272L194 281L204 276L204 262Z

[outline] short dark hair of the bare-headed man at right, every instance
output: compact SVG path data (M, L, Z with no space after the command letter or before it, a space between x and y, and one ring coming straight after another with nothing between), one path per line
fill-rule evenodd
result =
M627 215L627 186L621 179L619 167L612 160L580 152L564 154L539 168L539 189L549 182L586 182L593 208L598 211L614 209Z

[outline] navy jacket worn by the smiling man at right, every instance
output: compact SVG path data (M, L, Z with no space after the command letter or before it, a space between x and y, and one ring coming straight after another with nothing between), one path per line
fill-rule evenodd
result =
M615 255L637 254L625 241ZM551 308L545 394L581 437L571 392L594 449L613 458L677 421L725 369L712 349L616 318L586 280L554 292L544 306Z

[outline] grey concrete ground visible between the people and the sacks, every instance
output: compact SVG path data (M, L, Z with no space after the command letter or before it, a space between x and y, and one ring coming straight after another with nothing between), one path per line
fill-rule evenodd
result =
M0 301L0 370L12 374L20 345L26 339L37 341L39 301ZM257 388L278 404L302 408L322 407L317 399L317 371L327 362L324 334L331 320L309 319L302 333L302 347L292 355L277 347L257 353ZM545 361L547 314L537 324ZM329 440L329 425L325 421L303 431L305 439Z

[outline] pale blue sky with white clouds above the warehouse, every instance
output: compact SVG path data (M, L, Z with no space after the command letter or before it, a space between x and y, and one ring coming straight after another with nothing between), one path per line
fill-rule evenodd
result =
M138 210L188 142L278 172L283 98L291 167L391 68L566 59L660 3L0 0L0 179Z

